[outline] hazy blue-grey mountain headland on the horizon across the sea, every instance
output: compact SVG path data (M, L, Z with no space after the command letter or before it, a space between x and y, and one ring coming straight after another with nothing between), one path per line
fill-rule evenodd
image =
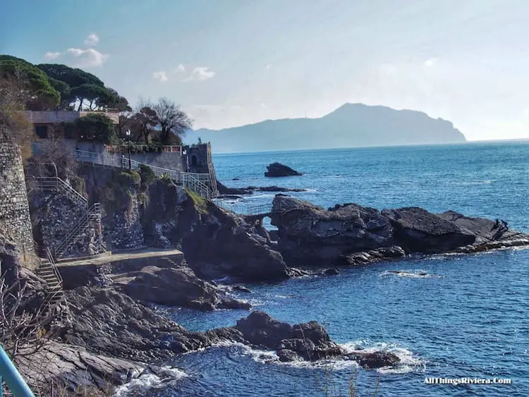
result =
M281 118L223 130L201 128L188 141L212 142L215 152L317 149L466 142L450 121L421 111L344 104L321 118Z

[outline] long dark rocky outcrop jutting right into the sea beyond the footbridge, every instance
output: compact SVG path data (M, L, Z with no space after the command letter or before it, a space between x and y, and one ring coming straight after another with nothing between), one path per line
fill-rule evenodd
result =
M343 204L327 210L276 195L272 224L287 264L365 264L413 253L478 252L529 245L529 236L501 222L418 207L377 209Z

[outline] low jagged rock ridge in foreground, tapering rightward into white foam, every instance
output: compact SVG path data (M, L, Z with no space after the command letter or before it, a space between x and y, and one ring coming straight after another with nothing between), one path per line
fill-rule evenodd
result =
M114 288L76 288L67 299L73 321L63 340L116 358L153 362L233 341L274 350L281 361L341 358L366 368L399 362L391 353L348 353L317 322L291 326L265 312L251 312L235 326L191 332Z

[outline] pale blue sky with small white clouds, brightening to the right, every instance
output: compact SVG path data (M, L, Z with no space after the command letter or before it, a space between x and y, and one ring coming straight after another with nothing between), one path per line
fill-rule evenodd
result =
M526 0L0 0L0 54L94 73L195 128L414 109L529 138Z

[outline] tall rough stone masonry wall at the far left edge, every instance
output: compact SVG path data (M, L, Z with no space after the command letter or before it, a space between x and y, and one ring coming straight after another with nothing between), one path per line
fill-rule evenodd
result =
M6 128L0 127L0 231L16 243L23 266L32 269L38 261L33 247L22 157L7 134Z

